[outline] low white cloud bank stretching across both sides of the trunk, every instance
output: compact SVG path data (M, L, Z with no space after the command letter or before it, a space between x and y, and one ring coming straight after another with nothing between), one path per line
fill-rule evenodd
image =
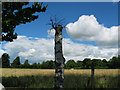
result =
M3 45L11 61L20 56L23 63L26 59L30 63L54 60L54 39L32 38L19 36L14 42ZM75 43L68 38L63 39L63 53L66 60L83 60L84 58L106 58L117 55L117 48L103 48L98 46Z

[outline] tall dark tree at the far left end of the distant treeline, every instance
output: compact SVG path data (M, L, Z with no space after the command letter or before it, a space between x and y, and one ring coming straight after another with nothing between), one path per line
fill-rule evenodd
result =
M4 53L2 55L2 68L8 68L10 67L10 56L7 53Z

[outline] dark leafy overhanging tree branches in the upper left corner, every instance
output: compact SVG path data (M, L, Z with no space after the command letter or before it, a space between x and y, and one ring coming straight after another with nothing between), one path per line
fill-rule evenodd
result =
M43 3L2 2L2 41L13 41L17 38L14 32L17 25L30 23L38 18L36 12L45 12Z

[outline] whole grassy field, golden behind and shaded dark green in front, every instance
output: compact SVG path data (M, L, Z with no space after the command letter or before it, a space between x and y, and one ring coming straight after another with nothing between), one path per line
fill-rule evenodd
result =
M2 69L5 87L53 88L54 69ZM64 88L90 88L90 69L66 69ZM95 88L118 88L119 69L95 69Z

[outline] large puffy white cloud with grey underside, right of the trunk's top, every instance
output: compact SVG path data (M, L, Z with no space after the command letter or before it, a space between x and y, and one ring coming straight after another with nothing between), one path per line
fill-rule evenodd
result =
M94 15L82 15L78 21L67 24L66 30L75 40L95 41L109 47L118 46L118 26L104 27Z

